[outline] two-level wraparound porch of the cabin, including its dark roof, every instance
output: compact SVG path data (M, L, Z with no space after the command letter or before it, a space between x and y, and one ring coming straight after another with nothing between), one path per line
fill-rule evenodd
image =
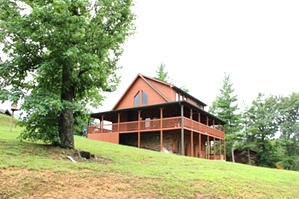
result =
M167 103L95 113L99 124L88 126L87 137L115 144L171 153L223 159L224 122L188 102ZM171 134L171 136L170 136ZM155 140L146 139L155 137ZM131 140L123 143L124 138Z

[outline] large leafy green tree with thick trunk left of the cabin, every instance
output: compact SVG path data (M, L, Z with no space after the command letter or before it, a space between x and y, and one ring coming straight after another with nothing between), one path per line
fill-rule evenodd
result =
M74 113L119 82L132 0L0 0L2 100L24 100L25 139L74 147Z

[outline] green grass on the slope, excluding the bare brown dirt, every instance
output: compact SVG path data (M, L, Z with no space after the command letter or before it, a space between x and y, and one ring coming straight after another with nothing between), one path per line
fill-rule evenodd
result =
M205 198L297 198L299 194L299 172L163 154L77 136L76 149L90 151L108 161L74 164L65 158L70 150L20 142L17 137L21 128L14 127L10 132L9 121L9 117L0 115L0 169L3 170L88 170L102 175L122 175L126 181L142 179L134 184L135 190L164 198L198 195Z

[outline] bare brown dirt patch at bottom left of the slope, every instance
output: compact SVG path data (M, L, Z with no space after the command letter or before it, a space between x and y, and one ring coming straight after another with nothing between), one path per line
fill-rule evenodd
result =
M143 183L144 179L93 171L63 173L8 168L0 170L0 198L163 198L140 190Z

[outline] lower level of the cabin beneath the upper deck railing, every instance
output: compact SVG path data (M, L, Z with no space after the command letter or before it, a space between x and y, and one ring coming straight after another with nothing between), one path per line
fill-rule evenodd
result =
M224 140L189 130L184 130L183 134L182 136L180 130L130 133L114 132L88 134L88 138L165 153L205 159L224 159Z

